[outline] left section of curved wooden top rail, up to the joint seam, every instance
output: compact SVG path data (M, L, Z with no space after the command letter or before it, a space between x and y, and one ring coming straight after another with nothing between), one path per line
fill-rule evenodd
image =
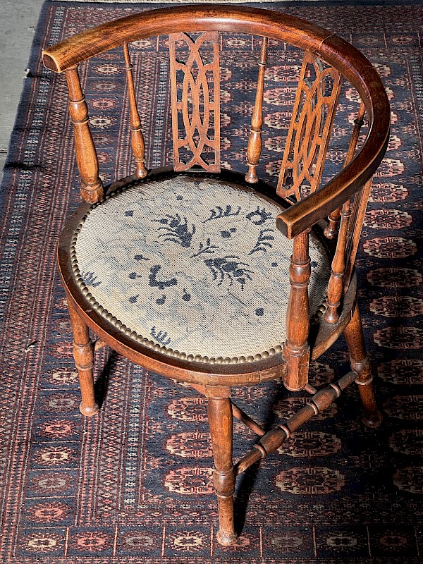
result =
M42 51L44 66L56 73L78 65L85 59L114 49L123 42L163 33L222 31L268 35L292 42L301 49L317 51L333 34L318 25L287 14L245 6L204 4L172 6L135 13L68 37Z

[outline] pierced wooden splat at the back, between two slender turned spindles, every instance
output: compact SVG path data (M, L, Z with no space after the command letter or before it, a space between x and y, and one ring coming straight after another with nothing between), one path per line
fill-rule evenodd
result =
M178 47L183 47L181 54ZM219 33L202 32L196 38L171 34L169 54L173 168L186 171L200 165L220 172Z

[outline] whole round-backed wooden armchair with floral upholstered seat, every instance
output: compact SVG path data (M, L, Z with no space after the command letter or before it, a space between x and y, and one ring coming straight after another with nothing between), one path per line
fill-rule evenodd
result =
M262 37L243 175L221 169L219 33ZM173 168L147 171L130 43L168 35ZM277 190L257 178L269 42L305 51ZM78 65L121 46L133 175L104 187ZM64 72L82 205L59 242L83 415L95 415L93 352L109 345L208 398L221 544L236 540L235 478L359 384L364 424L381 413L356 303L354 260L372 176L386 151L389 106L372 65L350 44L303 20L255 8L185 6L137 13L44 51ZM342 80L361 104L343 167L321 185ZM147 77L143 80L148 80ZM357 150L364 116L367 137ZM253 188L254 187L254 188ZM327 221L326 218L329 218ZM310 266L312 264L312 266ZM344 333L352 372L319 390L309 361ZM264 431L231 401L232 386L281 379L308 403ZM233 464L233 416L260 437Z

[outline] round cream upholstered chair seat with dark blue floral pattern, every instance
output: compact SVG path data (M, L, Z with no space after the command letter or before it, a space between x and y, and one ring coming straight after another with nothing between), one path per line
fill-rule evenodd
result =
M156 350L202 362L252 362L286 339L292 241L282 207L217 178L137 183L94 204L74 245L97 311ZM324 310L330 257L311 233L312 317ZM88 293L87 293L88 292Z

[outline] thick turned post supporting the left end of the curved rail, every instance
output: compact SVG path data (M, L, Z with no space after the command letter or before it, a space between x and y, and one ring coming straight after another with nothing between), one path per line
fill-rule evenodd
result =
M99 162L90 131L88 107L82 92L78 65L65 71L69 92L69 114L75 135L76 164L81 176L81 197L84 202L102 199L103 184L99 178Z

